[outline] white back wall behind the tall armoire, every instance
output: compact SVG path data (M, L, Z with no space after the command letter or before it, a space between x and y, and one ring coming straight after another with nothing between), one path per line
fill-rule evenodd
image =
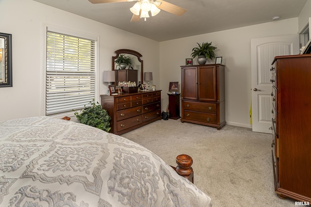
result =
M160 42L160 87L166 93L170 81L181 82L180 65L191 58L196 43L212 42L216 56L223 57L225 66L225 118L228 124L251 127L251 57L250 40L253 38L298 33L298 18L279 20L221 32L196 35ZM197 64L196 59L194 64ZM162 93L162 95L165 95ZM168 104L164 98L162 109Z

